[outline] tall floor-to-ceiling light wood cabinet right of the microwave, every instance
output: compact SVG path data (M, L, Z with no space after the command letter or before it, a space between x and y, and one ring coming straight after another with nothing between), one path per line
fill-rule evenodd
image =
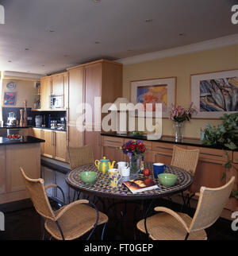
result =
M118 97L121 97L122 65L109 60L97 60L68 68L67 71L68 145L91 144L94 149L94 158L98 159L102 156L102 145L100 143L102 116L100 108L94 106L94 99L100 97L101 103L99 102L99 104L102 106L104 103L113 103ZM80 114L77 112L80 103L87 103L92 107L92 111L86 111L81 120L79 118ZM94 109L98 110L99 113L95 114ZM78 127L91 127L92 131L79 131L76 122Z

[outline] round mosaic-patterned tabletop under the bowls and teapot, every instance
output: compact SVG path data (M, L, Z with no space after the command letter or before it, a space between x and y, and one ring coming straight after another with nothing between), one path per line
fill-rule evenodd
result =
M144 168L153 169L152 163L145 162ZM85 171L94 171L98 173L98 178L94 182L94 184L85 184L82 180L80 180L79 173ZM150 199L159 196L169 196L175 194L176 192L181 192L186 190L192 184L193 178L190 173L187 173L183 169L179 169L177 167L167 165L167 169L165 173L174 173L177 175L178 179L175 185L166 188L162 184L159 184L159 181L155 179L153 173L149 176L152 180L155 181L155 184L158 185L159 188L148 190L144 192L138 192L133 194L129 191L129 188L122 185L121 187L111 188L109 186L109 175L102 174L98 172L98 169L95 165L83 165L77 169L72 170L70 173L67 174L66 181L67 184L71 186L71 188L75 188L75 190L88 192L93 194L94 196L105 196L105 197L113 197L113 198L121 198L125 200L129 199ZM139 175L139 177L143 177L144 175Z

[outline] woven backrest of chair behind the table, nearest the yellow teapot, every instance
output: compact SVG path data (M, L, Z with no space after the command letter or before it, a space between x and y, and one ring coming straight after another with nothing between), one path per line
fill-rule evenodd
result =
M94 164L92 145L83 145L79 147L68 146L67 151L71 169L78 168L81 165Z

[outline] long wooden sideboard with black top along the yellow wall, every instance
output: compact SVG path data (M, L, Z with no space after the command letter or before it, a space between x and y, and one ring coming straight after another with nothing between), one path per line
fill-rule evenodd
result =
M183 139L182 142L175 142L175 138L162 137L157 141L149 141L144 136L129 134L102 133L102 156L110 161L128 161L128 157L121 153L121 145L132 139L140 139L144 142L147 151L144 161L163 162L171 164L173 146L178 145L184 149L199 149L200 156L197 170L194 176L193 186L199 192L201 186L217 188L225 184L230 176L236 176L234 190L238 189L238 151L226 150L217 147L203 145L198 139ZM232 169L226 172L226 178L221 180L225 172L225 163L231 160ZM198 199L198 198L197 198ZM231 197L226 208L230 211L238 211L238 200Z

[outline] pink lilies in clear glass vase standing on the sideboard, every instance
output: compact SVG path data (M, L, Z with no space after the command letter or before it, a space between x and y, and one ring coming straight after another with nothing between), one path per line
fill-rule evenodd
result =
M170 119L175 121L173 126L175 129L175 142L182 142L183 122L190 121L191 115L197 113L197 111L192 106L193 103L191 103L190 108L186 110L184 107L176 107L172 105Z

